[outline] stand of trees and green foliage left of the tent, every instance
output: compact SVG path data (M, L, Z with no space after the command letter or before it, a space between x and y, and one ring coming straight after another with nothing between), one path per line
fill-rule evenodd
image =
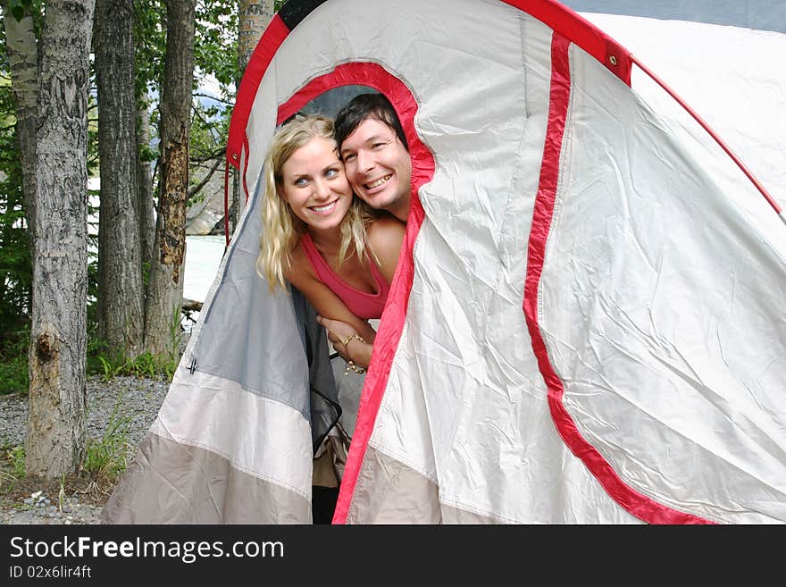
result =
M24 447L3 447L17 476L63 478L95 459L90 373L171 380L186 210L232 172L234 93L280 4L2 1L0 394L29 401Z

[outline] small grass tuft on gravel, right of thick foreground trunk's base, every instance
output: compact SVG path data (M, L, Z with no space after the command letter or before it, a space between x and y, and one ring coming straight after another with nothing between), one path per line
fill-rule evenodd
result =
M130 415L120 412L122 396L117 399L112 415L100 439L88 439L82 470L99 481L115 482L120 479L133 456L128 440Z

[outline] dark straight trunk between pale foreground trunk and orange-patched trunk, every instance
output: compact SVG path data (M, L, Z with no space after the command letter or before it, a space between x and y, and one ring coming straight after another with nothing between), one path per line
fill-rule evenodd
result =
M128 357L141 353L145 324L133 22L133 0L96 0L98 335Z

